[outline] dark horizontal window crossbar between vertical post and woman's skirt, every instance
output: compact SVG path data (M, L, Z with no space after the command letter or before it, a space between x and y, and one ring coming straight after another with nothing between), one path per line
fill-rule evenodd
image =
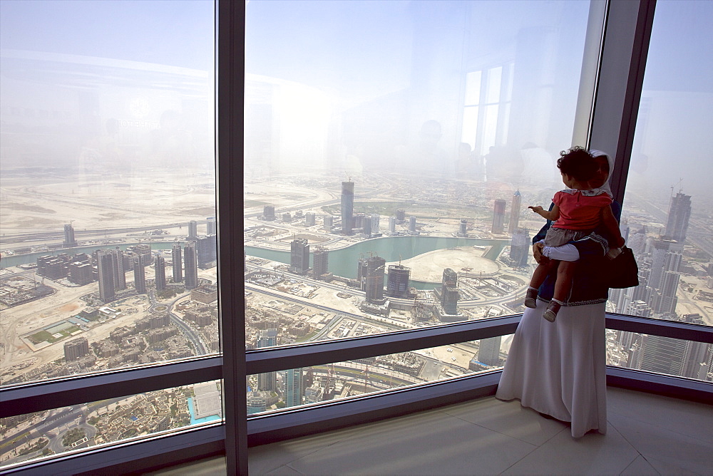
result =
M257 349L247 352L247 374L354 361L359 358L504 336L514 333L519 322L520 316L506 316L337 341Z

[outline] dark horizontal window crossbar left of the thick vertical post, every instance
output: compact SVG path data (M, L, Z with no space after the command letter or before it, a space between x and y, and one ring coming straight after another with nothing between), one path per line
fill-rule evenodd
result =
M220 378L222 357L207 357L0 388L0 418Z

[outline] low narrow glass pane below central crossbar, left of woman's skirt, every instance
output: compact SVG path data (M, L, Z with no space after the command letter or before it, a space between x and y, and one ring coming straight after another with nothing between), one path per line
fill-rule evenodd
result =
M247 413L356 397L502 368L513 335L248 377Z

